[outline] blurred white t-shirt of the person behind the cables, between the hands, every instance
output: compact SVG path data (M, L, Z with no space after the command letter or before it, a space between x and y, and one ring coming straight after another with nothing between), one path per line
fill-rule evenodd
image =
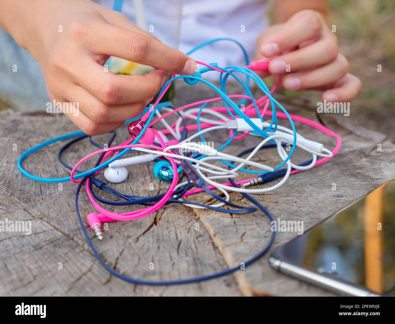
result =
M113 0L96 2L113 8ZM252 59L255 42L267 27L269 4L268 0L124 0L122 13L165 44L178 45L184 53L213 38L232 38L245 47ZM141 15L145 23L136 18ZM191 57L220 66L245 62L241 49L228 41L207 45Z

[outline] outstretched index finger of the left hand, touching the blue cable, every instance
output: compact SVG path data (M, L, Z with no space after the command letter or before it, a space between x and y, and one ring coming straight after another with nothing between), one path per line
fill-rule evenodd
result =
M108 23L101 27L95 31L94 42L86 44L93 53L113 55L175 74L196 72L193 59L155 38Z

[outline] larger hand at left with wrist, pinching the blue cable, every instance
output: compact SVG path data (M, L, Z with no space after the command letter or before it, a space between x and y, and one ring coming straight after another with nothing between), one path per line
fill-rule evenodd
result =
M29 21L21 19L22 30L7 29L40 63L51 100L79 102L79 116L67 115L88 135L138 116L168 80L165 71L195 73L190 57L94 2L41 0L23 6L18 9ZM115 75L103 67L110 55L161 70Z

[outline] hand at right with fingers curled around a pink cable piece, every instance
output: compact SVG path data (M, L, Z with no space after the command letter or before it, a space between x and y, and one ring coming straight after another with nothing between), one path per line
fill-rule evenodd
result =
M348 102L361 90L361 81L347 73L335 34L316 11L299 11L267 28L257 41L256 58L271 61L270 74L286 74L282 85L288 90L324 90L328 102Z

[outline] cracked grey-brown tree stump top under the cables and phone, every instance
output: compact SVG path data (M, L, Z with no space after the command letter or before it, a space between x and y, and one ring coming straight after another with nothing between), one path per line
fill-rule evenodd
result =
M237 88L229 87L229 93ZM215 93L201 85L179 83L174 106L214 97ZM269 209L275 219L303 220L305 230L329 217L340 208L391 178L395 178L395 145L386 136L354 125L348 117L320 114L299 99L275 96L294 114L323 123L342 137L340 152L329 162L314 169L293 174L280 188L252 195ZM310 107L309 107L310 106ZM319 118L318 118L319 117ZM280 119L282 125L288 122ZM335 139L307 125L295 124L299 133L333 149ZM1 296L334 296L316 286L274 271L269 254L245 270L220 279L182 286L137 286L117 279L98 263L83 236L75 213L73 183L40 183L23 176L17 159L24 151L49 138L77 130L66 116L13 110L0 112L0 219L30 220L32 234L0 232ZM117 131L118 144L128 138L126 127ZM104 144L108 134L94 136ZM226 138L213 132L207 141L218 147ZM247 136L224 150L237 154L256 146L259 138ZM24 162L26 171L42 177L58 178L70 172L57 159L56 143L30 155ZM16 150L15 150L16 144ZM378 150L378 144L382 150ZM85 139L63 154L64 161L74 165L82 156L96 150ZM300 150L292 161L310 159ZM277 165L275 150L258 153L254 161ZM93 159L81 165L90 169ZM151 196L164 192L168 184L152 175L153 163L129 167L128 179L113 187L126 194ZM105 180L102 174L98 176ZM242 174L241 178L248 178ZM336 190L333 191L333 184ZM268 186L268 185L267 185ZM106 193L96 193L113 199ZM212 202L206 194L194 195L193 201ZM231 200L250 205L238 193ZM85 218L93 212L85 189L79 200ZM112 208L119 212L139 207ZM224 214L212 210L192 209L184 205L168 205L154 214L132 222L111 222L103 241L93 238L94 246L105 262L124 275L144 280L176 280L208 275L239 265L258 253L271 236L270 221L261 212ZM296 232L276 233L274 248L286 243ZM62 269L60 269L60 264ZM153 269L150 265L153 264Z

